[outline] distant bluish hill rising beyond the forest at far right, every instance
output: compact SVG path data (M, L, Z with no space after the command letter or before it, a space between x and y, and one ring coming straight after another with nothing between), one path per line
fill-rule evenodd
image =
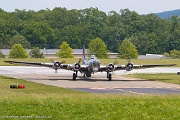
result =
M164 19L170 18L172 16L180 16L180 9L156 13L156 15Z

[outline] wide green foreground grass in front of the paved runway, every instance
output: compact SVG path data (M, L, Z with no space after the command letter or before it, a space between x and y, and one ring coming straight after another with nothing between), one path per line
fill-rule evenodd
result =
M179 113L180 95L90 94L0 76L0 119L178 120Z

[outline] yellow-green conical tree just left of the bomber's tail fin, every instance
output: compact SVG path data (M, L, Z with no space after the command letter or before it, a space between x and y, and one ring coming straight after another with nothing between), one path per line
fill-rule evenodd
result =
M70 48L69 44L66 42L63 42L59 46L60 50L56 53L56 56L59 58L74 58L74 55L72 54L73 50Z

